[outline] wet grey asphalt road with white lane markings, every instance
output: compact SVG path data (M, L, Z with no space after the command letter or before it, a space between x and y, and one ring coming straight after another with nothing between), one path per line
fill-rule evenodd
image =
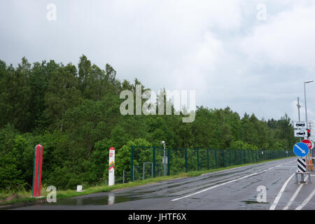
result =
M295 183L296 169L297 158L288 158L16 209L315 209L315 174L311 184ZM258 186L265 186L264 203L257 202Z

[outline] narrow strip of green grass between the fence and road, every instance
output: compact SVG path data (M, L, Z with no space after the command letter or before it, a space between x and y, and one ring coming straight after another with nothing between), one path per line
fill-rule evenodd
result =
M289 157L287 157L287 158L289 158ZM286 158L280 158L280 159L274 159L274 160L281 160L281 159L286 159ZM84 189L85 191L80 192L80 193L76 192L76 190L57 190L57 201L58 200L64 200L64 199L69 198L69 197L76 197L76 196L80 196L80 195L90 195L93 193L109 192L111 190L119 190L119 189L124 189L124 188L132 188L132 187L136 187L136 186L146 185L149 183L157 183L160 181L167 181L167 180L179 179L179 178L184 178L184 177L200 176L201 174L218 172L221 170L232 169L232 168L236 168L236 167L255 165L255 164L260 164L263 162L269 162L269 161L274 161L274 160L264 160L264 161L260 161L260 162L246 163L243 165L221 167L218 169L193 171L193 172L176 174L176 175L171 175L171 176L159 176L159 177L155 177L153 179L145 179L145 180L141 180L141 181L134 181L134 182L128 182L128 183L118 183L114 186L94 186L94 187ZM43 189L43 188L41 189L41 195L42 196L47 196L48 193L49 192L46 192L45 189ZM11 197L11 199L10 199L10 197ZM19 203L28 203L28 202L45 202L45 201L46 201L46 197L43 197L43 198L31 197L31 191L27 192L26 190L22 190L22 191L19 191L17 193L14 193L14 194L0 192L0 206L10 205L10 204L19 204Z

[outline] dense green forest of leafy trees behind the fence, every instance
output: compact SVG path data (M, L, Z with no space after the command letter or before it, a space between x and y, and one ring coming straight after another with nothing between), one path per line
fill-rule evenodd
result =
M104 183L112 146L117 169L130 169L130 146L161 146L161 140L167 148L253 150L289 149L296 141L286 114L259 120L229 107L197 106L193 123L174 113L123 116L120 92L134 92L137 84L85 55L77 66L23 57L15 68L0 60L0 189L31 188L37 144L44 147L44 186L74 189Z

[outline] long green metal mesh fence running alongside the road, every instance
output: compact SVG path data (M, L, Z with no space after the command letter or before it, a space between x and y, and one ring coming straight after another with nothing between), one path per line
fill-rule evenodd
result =
M293 151L232 150L210 148L159 148L131 146L130 181L163 176L162 158L167 156L167 175L216 169L293 156Z

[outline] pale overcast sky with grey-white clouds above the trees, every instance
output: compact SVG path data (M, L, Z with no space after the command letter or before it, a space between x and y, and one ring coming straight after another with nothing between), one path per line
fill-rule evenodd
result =
M119 80L196 90L197 106L266 120L297 120L297 97L304 120L303 82L315 79L312 0L1 0L0 30L7 64L25 56L77 65L84 54ZM314 94L307 84L309 120Z

